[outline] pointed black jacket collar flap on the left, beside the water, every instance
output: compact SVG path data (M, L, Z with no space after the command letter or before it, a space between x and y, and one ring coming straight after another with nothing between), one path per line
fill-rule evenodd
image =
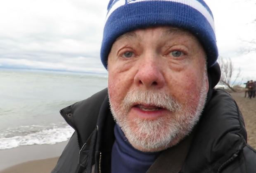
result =
M60 113L69 126L76 130L81 149L97 126L102 130L104 120L110 114L107 88L60 110Z

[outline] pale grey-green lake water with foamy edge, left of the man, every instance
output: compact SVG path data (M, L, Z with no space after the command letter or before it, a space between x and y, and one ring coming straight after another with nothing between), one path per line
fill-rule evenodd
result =
M107 87L107 74L0 69L0 149L69 139L59 110Z

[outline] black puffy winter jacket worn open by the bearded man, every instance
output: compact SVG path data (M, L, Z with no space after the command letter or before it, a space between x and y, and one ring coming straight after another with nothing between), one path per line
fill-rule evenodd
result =
M76 131L52 173L110 173L115 122L107 89L60 112ZM193 134L180 173L256 173L256 151L247 144L242 114L224 90L209 92Z

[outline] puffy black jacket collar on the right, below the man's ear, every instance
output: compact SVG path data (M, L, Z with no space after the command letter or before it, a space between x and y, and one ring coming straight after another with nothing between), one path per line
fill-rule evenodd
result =
M247 143L242 114L224 90L213 90L194 131L182 172L218 172Z

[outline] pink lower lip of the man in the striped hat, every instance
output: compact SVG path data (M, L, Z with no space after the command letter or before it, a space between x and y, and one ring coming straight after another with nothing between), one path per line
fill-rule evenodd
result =
M164 116L168 113L167 109L159 109L154 111L143 111L142 109L138 107L132 107L130 109L129 114L133 117L139 117L142 119L157 119L161 116Z

